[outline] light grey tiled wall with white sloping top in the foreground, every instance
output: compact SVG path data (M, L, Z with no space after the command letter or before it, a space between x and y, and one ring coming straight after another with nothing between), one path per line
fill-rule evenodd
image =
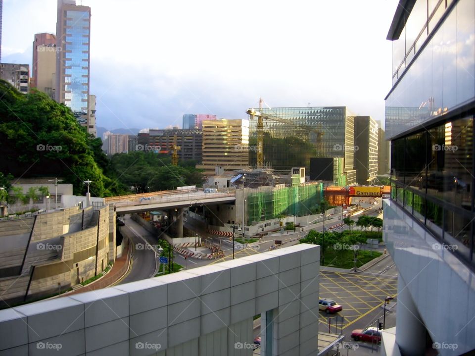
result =
M0 353L252 355L260 315L260 355L318 355L319 273L300 244L0 310Z

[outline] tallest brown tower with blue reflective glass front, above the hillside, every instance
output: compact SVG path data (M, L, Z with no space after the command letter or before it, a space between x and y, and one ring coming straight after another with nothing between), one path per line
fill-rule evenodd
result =
M89 116L91 8L58 0L55 99L92 132Z

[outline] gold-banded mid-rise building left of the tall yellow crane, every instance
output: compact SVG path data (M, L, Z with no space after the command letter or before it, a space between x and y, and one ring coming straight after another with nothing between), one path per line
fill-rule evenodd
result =
M203 121L203 148L201 164L205 175L213 175L216 167L233 171L248 167L249 121L205 120Z

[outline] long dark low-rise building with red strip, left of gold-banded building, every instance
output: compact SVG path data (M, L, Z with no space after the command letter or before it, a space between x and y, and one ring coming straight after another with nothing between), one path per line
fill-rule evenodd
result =
M201 150L203 143L203 132L196 129L182 130L161 130L150 129L148 144L151 147L160 148L158 151L172 154L175 134L177 135L178 158L194 159L201 162Z

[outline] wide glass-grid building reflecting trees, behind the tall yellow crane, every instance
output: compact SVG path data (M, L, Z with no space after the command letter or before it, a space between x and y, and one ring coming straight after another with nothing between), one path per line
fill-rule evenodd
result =
M287 172L294 166L310 171L310 158L344 158L346 184L356 183L354 114L346 106L255 108L276 120L263 120L264 164ZM257 119L249 122L250 145L257 144ZM255 165L255 150L250 164Z

